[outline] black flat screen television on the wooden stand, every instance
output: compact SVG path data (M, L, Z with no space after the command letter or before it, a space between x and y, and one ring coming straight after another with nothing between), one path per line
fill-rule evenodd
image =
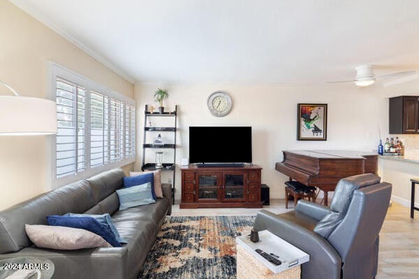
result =
M189 127L189 163L251 162L251 127Z

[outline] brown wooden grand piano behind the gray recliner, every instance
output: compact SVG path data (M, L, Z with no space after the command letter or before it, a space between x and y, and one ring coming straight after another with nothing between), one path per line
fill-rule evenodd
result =
M378 154L362 151L297 150L282 151L284 160L275 169L307 186L316 186L324 192L328 205L328 192L337 182L348 176L377 173Z

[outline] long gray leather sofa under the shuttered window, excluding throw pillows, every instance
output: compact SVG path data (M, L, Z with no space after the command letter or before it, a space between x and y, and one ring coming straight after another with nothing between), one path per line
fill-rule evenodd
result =
M172 191L163 183L163 199L155 204L119 211L115 190L122 188L122 169L71 183L0 211L0 260L45 257L54 263L52 278L136 278L156 241L166 215L171 213ZM47 225L46 216L65 213L110 213L115 227L128 241L122 248L51 250L33 246L25 224Z

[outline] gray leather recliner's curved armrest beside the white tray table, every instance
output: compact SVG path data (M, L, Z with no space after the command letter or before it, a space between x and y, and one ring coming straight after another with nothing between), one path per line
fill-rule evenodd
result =
M266 210L258 212L253 228L267 229L310 255L310 261L302 264L301 278L341 278L341 257L326 239L310 229Z

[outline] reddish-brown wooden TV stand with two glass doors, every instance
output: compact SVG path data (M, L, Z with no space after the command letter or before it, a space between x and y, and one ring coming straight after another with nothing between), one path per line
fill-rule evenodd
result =
M181 209L204 207L262 208L258 165L244 167L181 167Z

